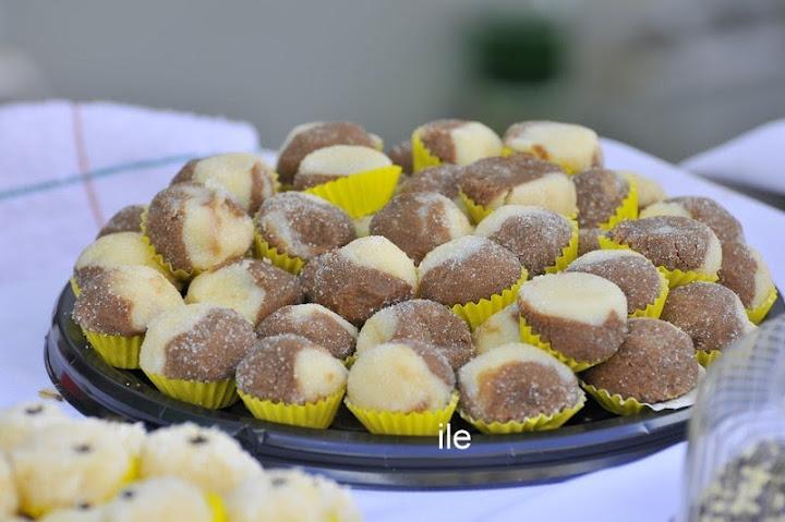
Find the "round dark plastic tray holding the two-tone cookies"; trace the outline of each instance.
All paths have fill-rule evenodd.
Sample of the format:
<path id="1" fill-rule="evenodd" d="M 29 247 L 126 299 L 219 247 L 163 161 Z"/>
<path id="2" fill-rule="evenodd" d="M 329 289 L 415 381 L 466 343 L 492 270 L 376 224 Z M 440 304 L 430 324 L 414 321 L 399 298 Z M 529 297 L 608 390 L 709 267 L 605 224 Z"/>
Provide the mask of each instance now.
<path id="1" fill-rule="evenodd" d="M 689 409 L 616 417 L 591 399 L 553 432 L 490 436 L 469 429 L 466 450 L 439 449 L 437 437 L 371 435 L 341 408 L 329 429 L 253 418 L 242 403 L 210 411 L 170 399 L 142 372 L 108 366 L 71 319 L 74 295 L 64 288 L 46 339 L 45 363 L 58 390 L 86 415 L 142 421 L 155 428 L 191 421 L 234 436 L 263 464 L 298 465 L 355 486 L 403 489 L 541 484 L 639 459 L 684 440 Z M 770 317 L 785 312 L 778 299 Z"/>

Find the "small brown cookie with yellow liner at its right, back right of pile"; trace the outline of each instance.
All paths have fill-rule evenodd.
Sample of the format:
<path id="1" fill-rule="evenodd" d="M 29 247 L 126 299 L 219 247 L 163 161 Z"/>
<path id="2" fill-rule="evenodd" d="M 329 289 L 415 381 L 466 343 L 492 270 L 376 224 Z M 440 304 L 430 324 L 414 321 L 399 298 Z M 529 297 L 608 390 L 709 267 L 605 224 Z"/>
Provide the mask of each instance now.
<path id="1" fill-rule="evenodd" d="M 638 190 L 627 178 L 607 169 L 589 169 L 572 178 L 581 228 L 609 229 L 638 217 Z"/>

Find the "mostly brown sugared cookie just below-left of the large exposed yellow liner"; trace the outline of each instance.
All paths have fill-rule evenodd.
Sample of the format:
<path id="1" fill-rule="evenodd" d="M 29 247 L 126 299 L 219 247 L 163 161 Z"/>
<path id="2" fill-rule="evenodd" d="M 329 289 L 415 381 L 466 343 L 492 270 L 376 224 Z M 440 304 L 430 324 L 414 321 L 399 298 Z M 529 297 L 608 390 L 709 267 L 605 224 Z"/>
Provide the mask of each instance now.
<path id="1" fill-rule="evenodd" d="M 279 252 L 304 260 L 357 238 L 351 218 L 311 194 L 285 192 L 267 199 L 254 217 L 256 233 Z"/>

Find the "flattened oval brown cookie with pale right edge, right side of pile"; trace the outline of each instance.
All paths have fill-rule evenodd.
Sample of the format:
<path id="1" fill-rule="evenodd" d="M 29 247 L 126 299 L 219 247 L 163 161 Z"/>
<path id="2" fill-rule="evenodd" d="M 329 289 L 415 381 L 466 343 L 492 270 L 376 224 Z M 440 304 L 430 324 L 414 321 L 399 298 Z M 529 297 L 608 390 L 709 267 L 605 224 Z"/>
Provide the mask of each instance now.
<path id="1" fill-rule="evenodd" d="M 656 216 L 621 221 L 606 235 L 668 270 L 716 274 L 722 265 L 720 240 L 712 229 L 695 219 Z"/>

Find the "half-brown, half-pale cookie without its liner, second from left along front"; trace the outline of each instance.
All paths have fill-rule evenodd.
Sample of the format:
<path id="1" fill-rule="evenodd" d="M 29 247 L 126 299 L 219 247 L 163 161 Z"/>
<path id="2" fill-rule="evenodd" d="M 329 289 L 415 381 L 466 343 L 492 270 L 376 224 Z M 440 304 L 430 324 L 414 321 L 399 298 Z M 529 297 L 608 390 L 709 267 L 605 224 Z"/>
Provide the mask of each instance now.
<path id="1" fill-rule="evenodd" d="M 346 386 L 347 369 L 330 352 L 293 333 L 256 342 L 237 371 L 238 390 L 286 404 L 316 402 Z"/>

